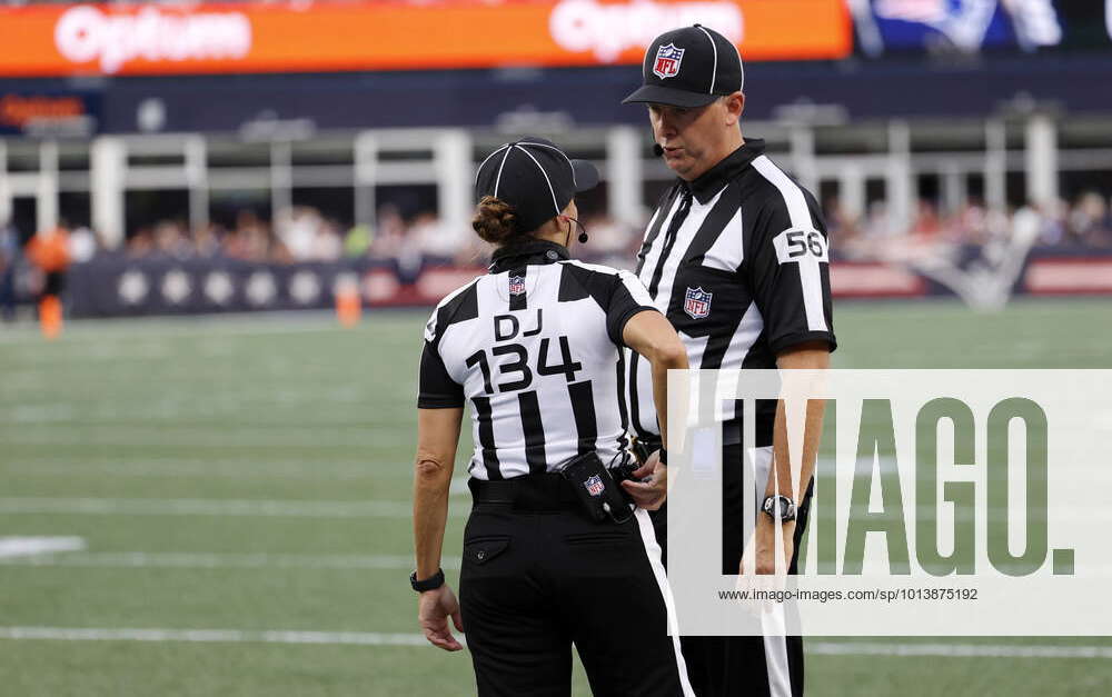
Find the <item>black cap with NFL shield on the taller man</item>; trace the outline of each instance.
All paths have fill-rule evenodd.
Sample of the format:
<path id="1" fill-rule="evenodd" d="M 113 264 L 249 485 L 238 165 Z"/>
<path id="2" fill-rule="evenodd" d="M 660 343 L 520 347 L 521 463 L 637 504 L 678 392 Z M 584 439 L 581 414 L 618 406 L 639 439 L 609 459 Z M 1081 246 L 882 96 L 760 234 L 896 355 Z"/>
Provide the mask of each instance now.
<path id="1" fill-rule="evenodd" d="M 622 103 L 703 107 L 745 83 L 742 57 L 729 39 L 702 24 L 658 36 L 645 51 L 645 83 Z"/>

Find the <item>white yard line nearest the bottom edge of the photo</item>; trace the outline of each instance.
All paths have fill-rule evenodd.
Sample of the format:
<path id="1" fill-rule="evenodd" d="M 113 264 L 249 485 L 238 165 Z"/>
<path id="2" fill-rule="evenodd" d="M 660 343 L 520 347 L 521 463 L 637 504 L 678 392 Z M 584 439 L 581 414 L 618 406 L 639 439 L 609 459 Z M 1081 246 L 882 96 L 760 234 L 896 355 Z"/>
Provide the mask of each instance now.
<path id="1" fill-rule="evenodd" d="M 464 639 L 457 634 L 457 638 Z M 240 629 L 108 629 L 0 627 L 0 639 L 57 641 L 190 641 L 200 644 L 326 644 L 340 646 L 429 646 L 419 634 L 377 631 L 246 631 Z M 861 644 L 812 641 L 807 653 L 827 656 L 933 656 L 943 658 L 1112 658 L 1112 646 L 1023 646 L 1013 644 Z"/>

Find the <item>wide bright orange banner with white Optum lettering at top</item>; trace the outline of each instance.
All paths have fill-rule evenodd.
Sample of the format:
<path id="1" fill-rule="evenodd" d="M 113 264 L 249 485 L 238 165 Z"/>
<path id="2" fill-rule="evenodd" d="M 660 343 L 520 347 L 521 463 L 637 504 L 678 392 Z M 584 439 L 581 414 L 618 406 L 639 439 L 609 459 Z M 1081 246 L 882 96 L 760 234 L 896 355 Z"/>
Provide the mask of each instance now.
<path id="1" fill-rule="evenodd" d="M 600 66 L 702 22 L 746 60 L 853 50 L 843 0 L 457 0 L 0 9 L 0 76 L 332 72 Z"/>

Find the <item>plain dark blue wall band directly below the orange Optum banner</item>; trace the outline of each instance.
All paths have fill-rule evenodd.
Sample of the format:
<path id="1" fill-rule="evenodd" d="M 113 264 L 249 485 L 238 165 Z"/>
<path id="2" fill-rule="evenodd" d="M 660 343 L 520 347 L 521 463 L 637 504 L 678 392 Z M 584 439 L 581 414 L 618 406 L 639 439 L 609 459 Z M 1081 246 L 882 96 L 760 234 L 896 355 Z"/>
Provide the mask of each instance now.
<path id="1" fill-rule="evenodd" d="M 230 131 L 267 112 L 311 119 L 320 129 L 489 126 L 522 107 L 600 125 L 642 122 L 642 109 L 619 103 L 638 79 L 636 67 L 620 67 L 3 80 L 0 91 L 99 92 L 105 132 L 138 130 L 138 106 L 151 97 L 166 104 L 168 131 Z M 751 63 L 745 92 L 747 116 L 757 119 L 800 101 L 840 104 L 852 119 L 975 117 L 1017 96 L 1054 102 L 1068 112 L 1112 113 L 1112 57 L 976 58 L 951 66 L 925 59 Z"/>

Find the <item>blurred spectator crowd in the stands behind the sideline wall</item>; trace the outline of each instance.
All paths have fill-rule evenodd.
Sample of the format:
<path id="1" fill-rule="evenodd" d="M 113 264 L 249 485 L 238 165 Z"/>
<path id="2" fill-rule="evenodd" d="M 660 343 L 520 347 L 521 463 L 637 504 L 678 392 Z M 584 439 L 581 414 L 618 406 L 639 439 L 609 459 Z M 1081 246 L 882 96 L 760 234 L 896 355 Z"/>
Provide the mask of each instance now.
<path id="1" fill-rule="evenodd" d="M 911 223 L 898 226 L 884 201 L 873 202 L 858 217 L 850 216 L 836 199 L 825 202 L 835 259 L 911 263 L 936 258 L 953 249 L 991 248 L 1022 240 L 1046 250 L 1112 252 L 1112 206 L 1106 197 L 1086 192 L 1051 208 L 1025 206 L 1009 211 L 986 209 L 970 201 L 956 211 L 940 212 L 927 200 L 919 202 Z M 587 261 L 628 268 L 641 245 L 642 228 L 606 216 L 584 216 L 590 236 L 577 246 Z M 405 218 L 384 206 L 374 226 L 347 227 L 320 210 L 299 206 L 266 220 L 239 211 L 227 225 L 211 222 L 190 230 L 180 220 L 163 220 L 136 229 L 122 250 L 107 251 L 88 227 L 68 227 L 70 257 L 82 263 L 99 253 L 127 258 L 226 258 L 248 262 L 331 262 L 370 259 L 390 262 L 403 278 L 426 265 L 483 266 L 489 246 L 470 229 L 451 229 L 431 211 Z M 20 233 L 23 233 L 22 236 Z M 0 225 L 0 270 L 10 271 L 20 257 L 28 231 Z"/>

